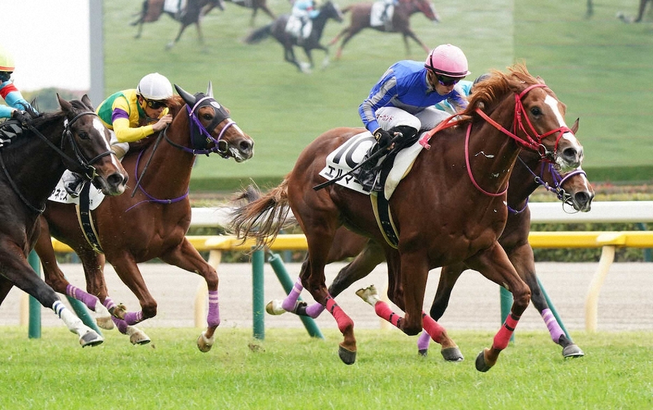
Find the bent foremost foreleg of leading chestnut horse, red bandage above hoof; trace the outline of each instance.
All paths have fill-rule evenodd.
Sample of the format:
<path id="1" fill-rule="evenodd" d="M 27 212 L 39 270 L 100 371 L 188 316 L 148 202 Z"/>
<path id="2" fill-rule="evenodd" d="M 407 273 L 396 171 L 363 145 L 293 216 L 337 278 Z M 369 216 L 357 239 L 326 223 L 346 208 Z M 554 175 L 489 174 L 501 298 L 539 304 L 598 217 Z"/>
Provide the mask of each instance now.
<path id="1" fill-rule="evenodd" d="M 512 293 L 512 307 L 501 329 L 494 336 L 492 347 L 485 349 L 476 358 L 476 369 L 487 372 L 496 364 L 499 353 L 508 346 L 512 333 L 515 332 L 517 323 L 524 310 L 529 306 L 531 291 L 510 263 L 508 256 L 498 242 L 466 261 L 467 265 L 478 270 L 483 276 L 503 286 Z"/>

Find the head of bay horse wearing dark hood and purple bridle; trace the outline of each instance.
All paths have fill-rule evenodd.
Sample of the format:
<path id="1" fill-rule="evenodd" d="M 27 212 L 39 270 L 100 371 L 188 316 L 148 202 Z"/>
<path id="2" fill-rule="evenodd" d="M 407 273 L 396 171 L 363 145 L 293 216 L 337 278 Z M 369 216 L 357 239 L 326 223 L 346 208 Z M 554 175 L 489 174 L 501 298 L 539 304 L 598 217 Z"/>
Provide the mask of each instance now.
<path id="1" fill-rule="evenodd" d="M 175 84 L 178 94 L 186 103 L 191 122 L 191 148 L 193 154 L 217 152 L 236 162 L 247 161 L 254 155 L 254 140 L 229 117 L 229 110 L 213 98 L 213 87 L 208 84 L 206 93 L 189 94 Z"/>

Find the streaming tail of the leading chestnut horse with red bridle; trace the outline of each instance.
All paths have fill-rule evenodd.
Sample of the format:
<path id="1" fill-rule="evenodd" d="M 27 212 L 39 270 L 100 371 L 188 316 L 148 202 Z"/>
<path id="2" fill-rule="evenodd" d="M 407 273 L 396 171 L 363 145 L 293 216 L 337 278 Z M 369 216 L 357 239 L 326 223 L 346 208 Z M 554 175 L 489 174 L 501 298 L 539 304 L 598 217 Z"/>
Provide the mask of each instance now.
<path id="1" fill-rule="evenodd" d="M 250 202 L 237 207 L 231 214 L 231 230 L 243 242 L 250 237 L 263 244 L 273 242 L 279 231 L 287 225 L 286 219 L 290 211 L 288 180 L 283 180 L 279 186 L 264 195 L 258 190 L 252 193 L 252 188 L 248 188 L 241 193 L 240 198 Z"/>

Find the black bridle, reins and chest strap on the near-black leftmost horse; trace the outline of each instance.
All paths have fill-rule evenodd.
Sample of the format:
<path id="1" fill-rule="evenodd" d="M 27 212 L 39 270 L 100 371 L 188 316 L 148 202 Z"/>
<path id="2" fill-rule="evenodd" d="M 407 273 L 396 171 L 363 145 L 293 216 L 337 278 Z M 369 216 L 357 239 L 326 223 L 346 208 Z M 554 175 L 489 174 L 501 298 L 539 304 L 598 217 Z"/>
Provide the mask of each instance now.
<path id="1" fill-rule="evenodd" d="M 92 111 L 85 111 L 85 112 L 80 112 L 78 115 L 73 117 L 73 119 L 71 119 L 70 121 L 68 121 L 68 118 L 64 119 L 64 131 L 62 131 L 62 137 L 63 138 L 62 138 L 62 144 L 61 144 L 60 148 L 57 147 L 57 145 L 53 144 L 52 141 L 50 141 L 48 138 L 43 136 L 41 131 L 38 131 L 38 129 L 36 129 L 36 127 L 34 127 L 33 125 L 27 124 L 27 128 L 32 133 L 36 134 L 36 136 L 38 136 L 38 138 L 41 138 L 41 140 L 45 141 L 45 143 L 50 148 L 54 149 L 55 152 L 57 152 L 57 154 L 59 154 L 59 156 L 62 157 L 63 161 L 68 161 L 69 163 L 76 164 L 76 166 L 79 167 L 79 170 L 74 170 L 74 171 L 71 170 L 71 171 L 76 172 L 76 173 L 80 173 L 80 174 L 84 175 L 85 177 L 87 177 L 89 180 L 93 180 L 97 176 L 97 173 L 96 173 L 95 168 L 92 166 L 92 164 L 96 163 L 97 161 L 99 161 L 99 159 L 103 158 L 104 156 L 115 154 L 115 152 L 113 150 L 109 150 L 107 152 L 103 152 L 102 154 L 99 154 L 99 155 L 95 156 L 90 161 L 85 159 L 79 145 L 77 144 L 76 140 L 73 138 L 73 133 L 71 131 L 71 126 L 80 117 L 82 117 L 83 115 L 97 115 L 97 114 L 95 112 L 92 112 Z M 64 143 L 66 142 L 66 140 L 68 140 L 70 142 L 70 145 L 73 148 L 73 152 L 75 152 L 76 160 L 72 159 L 70 156 L 68 156 L 64 152 L 63 148 L 64 148 Z M 7 180 L 9 181 L 9 184 L 11 185 L 11 188 L 16 193 L 18 198 L 20 198 L 20 200 L 22 200 L 22 202 L 25 205 L 27 205 L 27 207 L 30 210 L 36 212 L 37 214 L 42 214 L 43 211 L 45 211 L 45 203 L 43 203 L 43 206 L 40 207 L 40 208 L 37 208 L 34 205 L 31 205 L 29 200 L 27 200 L 27 198 L 24 197 L 24 195 L 20 191 L 20 188 L 16 185 L 16 183 L 13 180 L 13 178 L 11 177 L 11 175 L 9 175 L 9 170 L 6 167 L 6 164 L 5 164 L 5 162 L 4 162 L 3 158 L 2 158 L 2 155 L 0 155 L 0 166 L 2 167 L 4 175 L 6 175 Z"/>

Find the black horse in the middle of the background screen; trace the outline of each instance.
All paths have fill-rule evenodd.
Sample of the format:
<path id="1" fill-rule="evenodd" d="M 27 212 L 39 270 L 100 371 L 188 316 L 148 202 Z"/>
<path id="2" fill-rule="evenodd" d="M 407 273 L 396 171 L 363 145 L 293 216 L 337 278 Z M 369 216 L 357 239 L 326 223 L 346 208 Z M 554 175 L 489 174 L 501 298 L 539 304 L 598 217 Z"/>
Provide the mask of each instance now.
<path id="1" fill-rule="evenodd" d="M 264 38 L 268 36 L 273 36 L 283 46 L 283 57 L 285 60 L 290 64 L 294 64 L 299 71 L 308 72 L 310 71 L 310 68 L 313 68 L 314 64 L 311 51 L 315 49 L 324 51 L 324 62 L 322 65 L 327 66 L 327 64 L 329 64 L 329 49 L 320 44 L 320 39 L 322 38 L 324 26 L 327 25 L 327 20 L 333 19 L 337 22 L 343 21 L 343 14 L 340 13 L 340 9 L 336 6 L 336 3 L 329 0 L 320 7 L 320 14 L 313 20 L 313 29 L 310 31 L 310 36 L 303 40 L 301 44 L 295 36 L 286 31 L 288 18 L 289 15 L 280 15 L 277 20 L 274 20 L 266 27 L 254 30 L 252 34 L 245 38 L 245 43 L 255 44 L 264 40 Z M 308 57 L 308 66 L 306 63 L 301 63 L 296 59 L 293 50 L 294 46 L 303 48 L 306 57 Z"/>

